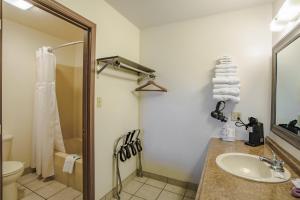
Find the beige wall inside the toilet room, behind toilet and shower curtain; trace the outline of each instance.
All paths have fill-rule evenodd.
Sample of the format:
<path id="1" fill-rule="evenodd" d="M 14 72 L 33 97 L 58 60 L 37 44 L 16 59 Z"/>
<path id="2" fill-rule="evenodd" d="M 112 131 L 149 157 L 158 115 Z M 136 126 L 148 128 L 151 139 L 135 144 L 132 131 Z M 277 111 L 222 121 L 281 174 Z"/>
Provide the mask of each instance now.
<path id="1" fill-rule="evenodd" d="M 4 12 L 5 18 L 5 12 Z M 3 129 L 14 136 L 12 158 L 31 158 L 31 130 L 35 88 L 35 52 L 42 46 L 57 46 L 65 40 L 3 21 Z M 75 49 L 56 52 L 57 63 L 75 65 Z"/>

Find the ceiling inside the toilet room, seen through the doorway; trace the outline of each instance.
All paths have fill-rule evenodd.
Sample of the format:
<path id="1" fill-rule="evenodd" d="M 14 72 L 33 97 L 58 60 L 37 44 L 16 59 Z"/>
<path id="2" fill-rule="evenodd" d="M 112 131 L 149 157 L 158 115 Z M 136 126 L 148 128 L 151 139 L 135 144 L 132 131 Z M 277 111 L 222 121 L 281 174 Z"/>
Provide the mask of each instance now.
<path id="1" fill-rule="evenodd" d="M 67 41 L 83 40 L 82 29 L 37 7 L 24 11 L 4 2 L 3 18 Z"/>

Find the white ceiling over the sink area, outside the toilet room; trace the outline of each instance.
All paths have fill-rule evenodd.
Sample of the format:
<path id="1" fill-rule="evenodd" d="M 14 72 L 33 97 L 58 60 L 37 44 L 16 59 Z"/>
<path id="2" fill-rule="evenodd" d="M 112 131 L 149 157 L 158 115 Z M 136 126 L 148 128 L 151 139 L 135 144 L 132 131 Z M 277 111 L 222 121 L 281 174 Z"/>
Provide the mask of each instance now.
<path id="1" fill-rule="evenodd" d="M 253 7 L 273 0 L 106 0 L 140 28 Z"/>

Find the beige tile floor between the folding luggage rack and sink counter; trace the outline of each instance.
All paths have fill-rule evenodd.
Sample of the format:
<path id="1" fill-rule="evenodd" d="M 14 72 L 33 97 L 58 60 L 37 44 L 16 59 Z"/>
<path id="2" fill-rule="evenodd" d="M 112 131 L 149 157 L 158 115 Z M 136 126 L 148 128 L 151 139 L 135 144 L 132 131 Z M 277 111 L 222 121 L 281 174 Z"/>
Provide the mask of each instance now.
<path id="1" fill-rule="evenodd" d="M 193 200 L 196 192 L 150 178 L 134 178 L 124 185 L 121 200 Z"/>

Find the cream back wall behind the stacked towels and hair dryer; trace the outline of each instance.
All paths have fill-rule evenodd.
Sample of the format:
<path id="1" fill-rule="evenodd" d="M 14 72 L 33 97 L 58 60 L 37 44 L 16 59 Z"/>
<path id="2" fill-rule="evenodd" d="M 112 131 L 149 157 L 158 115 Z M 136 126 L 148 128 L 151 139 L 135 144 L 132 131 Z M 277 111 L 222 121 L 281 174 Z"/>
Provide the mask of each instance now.
<path id="1" fill-rule="evenodd" d="M 145 170 L 199 183 L 208 141 L 223 125 L 210 117 L 217 103 L 211 79 L 222 55 L 233 57 L 241 79 L 241 102 L 228 103 L 226 114 L 257 117 L 269 131 L 271 18 L 268 4 L 142 31 L 141 62 L 155 66 L 158 82 L 169 89 L 141 102 Z"/>

